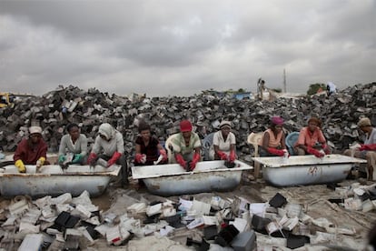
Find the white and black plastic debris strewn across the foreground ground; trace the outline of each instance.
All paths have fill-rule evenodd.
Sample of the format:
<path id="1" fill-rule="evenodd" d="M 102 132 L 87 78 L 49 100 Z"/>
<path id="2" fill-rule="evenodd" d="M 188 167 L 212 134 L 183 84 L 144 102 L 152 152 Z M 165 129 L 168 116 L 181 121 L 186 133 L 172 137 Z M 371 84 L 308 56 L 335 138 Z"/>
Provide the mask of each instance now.
<path id="1" fill-rule="evenodd" d="M 15 196 L 1 202 L 0 248 L 369 250 L 365 234 L 376 216 L 371 212 L 375 185 L 342 185 L 335 190 L 267 186 L 260 193 L 263 202 L 249 197 L 250 186 L 243 187 L 248 190 L 245 197 L 233 193 L 160 197 L 119 189 L 110 195 L 106 211 L 92 203 L 87 191 L 75 197 Z"/>

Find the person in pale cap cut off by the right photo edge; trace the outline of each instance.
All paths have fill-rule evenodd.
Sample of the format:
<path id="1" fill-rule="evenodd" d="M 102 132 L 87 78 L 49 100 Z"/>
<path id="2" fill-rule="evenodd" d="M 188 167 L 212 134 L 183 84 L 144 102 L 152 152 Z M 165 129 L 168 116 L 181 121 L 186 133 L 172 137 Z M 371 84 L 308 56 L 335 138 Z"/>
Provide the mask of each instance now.
<path id="1" fill-rule="evenodd" d="M 371 120 L 368 117 L 361 118 L 358 127 L 366 134 L 364 144 L 356 149 L 348 149 L 343 154 L 367 159 L 368 179 L 373 180 L 376 178 L 376 128 L 371 126 Z"/>

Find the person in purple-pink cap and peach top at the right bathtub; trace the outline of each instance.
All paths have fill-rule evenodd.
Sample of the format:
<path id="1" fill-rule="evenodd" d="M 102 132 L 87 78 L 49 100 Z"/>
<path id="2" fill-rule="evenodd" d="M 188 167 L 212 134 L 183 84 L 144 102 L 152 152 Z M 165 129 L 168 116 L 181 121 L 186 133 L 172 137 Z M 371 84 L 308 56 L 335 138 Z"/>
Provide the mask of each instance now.
<path id="1" fill-rule="evenodd" d="M 271 125 L 263 133 L 260 147 L 260 156 L 284 156 L 288 153 L 285 144 L 285 135 L 283 132 L 283 118 L 273 116 Z"/>

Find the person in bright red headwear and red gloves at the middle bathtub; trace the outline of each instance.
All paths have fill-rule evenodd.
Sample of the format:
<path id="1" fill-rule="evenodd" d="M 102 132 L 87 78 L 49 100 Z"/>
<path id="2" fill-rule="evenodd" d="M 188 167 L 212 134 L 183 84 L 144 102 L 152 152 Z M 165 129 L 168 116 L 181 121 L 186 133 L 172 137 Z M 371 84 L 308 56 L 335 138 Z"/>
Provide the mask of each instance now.
<path id="1" fill-rule="evenodd" d="M 167 146 L 173 151 L 169 163 L 178 163 L 188 171 L 193 171 L 201 159 L 201 140 L 192 129 L 191 122 L 183 120 L 180 123 L 180 133 L 171 136 L 171 146 Z"/>

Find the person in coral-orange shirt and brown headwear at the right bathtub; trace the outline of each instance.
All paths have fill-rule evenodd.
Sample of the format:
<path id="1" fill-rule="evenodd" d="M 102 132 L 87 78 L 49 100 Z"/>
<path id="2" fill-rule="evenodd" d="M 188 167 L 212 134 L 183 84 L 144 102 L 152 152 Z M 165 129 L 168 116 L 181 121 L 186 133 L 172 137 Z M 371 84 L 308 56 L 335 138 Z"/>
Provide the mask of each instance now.
<path id="1" fill-rule="evenodd" d="M 322 157 L 331 153 L 331 148 L 326 144 L 326 139 L 322 134 L 321 126 L 320 119 L 312 116 L 308 120 L 308 126 L 302 127 L 294 146 L 294 151 L 298 156 L 310 154 Z"/>

